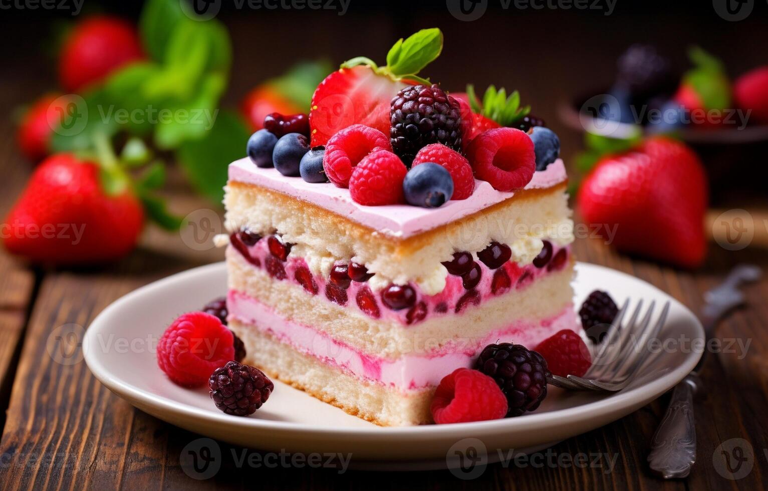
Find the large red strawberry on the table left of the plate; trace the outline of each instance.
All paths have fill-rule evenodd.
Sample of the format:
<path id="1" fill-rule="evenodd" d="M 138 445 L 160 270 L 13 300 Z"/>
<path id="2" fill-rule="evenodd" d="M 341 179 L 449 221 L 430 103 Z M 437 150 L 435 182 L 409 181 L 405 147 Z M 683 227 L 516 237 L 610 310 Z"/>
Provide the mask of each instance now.
<path id="1" fill-rule="evenodd" d="M 70 154 L 42 161 L 5 219 L 5 247 L 47 264 L 93 264 L 134 248 L 144 223 L 128 187 L 104 191 L 97 164 Z"/>

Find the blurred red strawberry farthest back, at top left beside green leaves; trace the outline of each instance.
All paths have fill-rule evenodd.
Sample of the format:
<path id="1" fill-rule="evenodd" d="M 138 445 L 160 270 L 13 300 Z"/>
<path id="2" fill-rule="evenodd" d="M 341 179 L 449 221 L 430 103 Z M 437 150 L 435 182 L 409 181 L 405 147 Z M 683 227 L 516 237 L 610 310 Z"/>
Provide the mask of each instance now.
<path id="1" fill-rule="evenodd" d="M 120 18 L 97 15 L 75 25 L 58 59 L 61 86 L 80 91 L 118 68 L 144 59 L 136 28 Z"/>

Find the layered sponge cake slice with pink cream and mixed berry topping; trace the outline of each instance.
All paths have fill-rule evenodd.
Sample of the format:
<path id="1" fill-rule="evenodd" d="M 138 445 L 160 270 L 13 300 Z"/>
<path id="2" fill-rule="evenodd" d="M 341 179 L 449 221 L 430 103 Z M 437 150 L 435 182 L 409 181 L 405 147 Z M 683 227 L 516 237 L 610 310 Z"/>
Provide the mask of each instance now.
<path id="1" fill-rule="evenodd" d="M 246 362 L 387 426 L 431 423 L 435 387 L 489 343 L 578 326 L 557 137 L 516 94 L 480 107 L 424 83 L 398 46 L 429 61 L 442 35 L 329 75 L 310 134 L 303 116 L 268 118 L 225 197 Z"/>

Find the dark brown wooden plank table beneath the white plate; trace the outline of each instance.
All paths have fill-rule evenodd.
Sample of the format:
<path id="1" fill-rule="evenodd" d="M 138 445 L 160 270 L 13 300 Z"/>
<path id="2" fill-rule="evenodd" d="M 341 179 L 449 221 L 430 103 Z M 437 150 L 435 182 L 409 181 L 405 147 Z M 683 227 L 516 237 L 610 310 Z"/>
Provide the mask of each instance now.
<path id="1" fill-rule="evenodd" d="M 242 35 L 235 31 L 234 38 Z M 237 50 L 236 50 L 237 51 Z M 240 54 L 242 56 L 242 53 Z M 343 56 L 343 55 L 342 55 Z M 50 70 L 14 58 L 14 77 L 0 81 L 0 113 L 8 115 L 20 101 L 34 98 Z M 37 67 L 37 68 L 35 68 Z M 235 90 L 252 83 L 235 78 Z M 531 85 L 533 82 L 531 82 Z M 553 88 L 554 90 L 554 88 Z M 558 88 L 558 90 L 561 90 Z M 553 114 L 554 115 L 554 114 Z M 0 121 L 0 213 L 3 216 L 22 189 L 31 166 L 15 147 L 10 118 Z M 578 135 L 563 134 L 564 148 L 578 148 Z M 569 154 L 572 155 L 573 151 Z M 175 210 L 211 207 L 175 181 L 168 195 Z M 765 250 L 730 252 L 712 244 L 707 263 L 696 272 L 674 270 L 616 254 L 597 240 L 575 244 L 579 260 L 604 264 L 660 287 L 697 311 L 702 294 L 748 261 L 768 270 Z M 768 277 L 746 289 L 749 307 L 738 310 L 717 329 L 723 338 L 751 340 L 739 359 L 718 353 L 703 370 L 705 390 L 695 403 L 699 459 L 685 480 L 663 481 L 650 475 L 646 456 L 651 435 L 667 396 L 615 423 L 552 447 L 555 456 L 597 453 L 608 459 L 600 467 L 505 468 L 488 466 L 482 476 L 462 481 L 448 471 L 373 473 L 335 469 L 239 469 L 232 459 L 211 479 L 194 481 L 180 466 L 180 453 L 198 438 L 194 433 L 157 420 L 104 388 L 84 362 L 57 363 L 49 353 L 65 350 L 78 356 L 78 343 L 59 339 L 65 324 L 88 327 L 112 301 L 167 275 L 220 260 L 220 250 L 184 246 L 179 234 L 147 229 L 131 255 L 111 267 L 88 270 L 36 269 L 0 252 L 0 486 L 4 489 L 177 489 L 222 486 L 243 489 L 333 489 L 382 486 L 438 489 L 448 486 L 494 489 L 761 489 L 768 486 Z M 141 327 L 137 327 L 141 329 Z M 728 440 L 745 439 L 753 447 L 753 469 L 728 480 L 713 463 L 716 449 Z M 222 443 L 222 451 L 232 447 Z M 743 444 L 742 444 L 743 446 Z M 237 449 L 234 449 L 237 450 Z M 608 462 L 615 460 L 613 469 Z M 746 464 L 745 464 L 746 465 Z"/>

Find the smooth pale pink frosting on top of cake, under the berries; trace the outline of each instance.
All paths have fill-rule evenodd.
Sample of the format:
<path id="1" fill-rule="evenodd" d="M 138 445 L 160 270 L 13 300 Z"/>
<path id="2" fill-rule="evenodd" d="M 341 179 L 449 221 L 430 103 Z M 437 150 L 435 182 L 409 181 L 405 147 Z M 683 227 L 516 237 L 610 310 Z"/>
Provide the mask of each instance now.
<path id="1" fill-rule="evenodd" d="M 301 177 L 286 177 L 274 168 L 257 168 L 249 158 L 230 164 L 230 181 L 279 191 L 297 199 L 308 201 L 326 210 L 393 237 L 412 237 L 424 231 L 449 224 L 459 218 L 483 210 L 512 197 L 513 192 L 496 191 L 486 181 L 475 180 L 475 192 L 465 200 L 452 200 L 439 208 L 422 208 L 407 204 L 365 206 L 349 196 L 349 190 L 334 184 L 316 184 Z M 561 159 L 549 164 L 545 171 L 535 172 L 525 189 L 545 189 L 566 179 Z"/>

